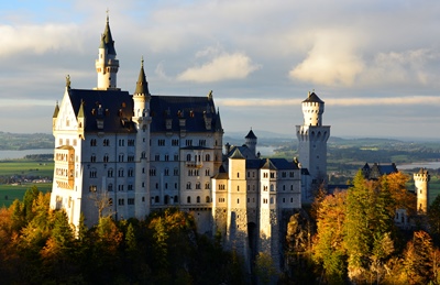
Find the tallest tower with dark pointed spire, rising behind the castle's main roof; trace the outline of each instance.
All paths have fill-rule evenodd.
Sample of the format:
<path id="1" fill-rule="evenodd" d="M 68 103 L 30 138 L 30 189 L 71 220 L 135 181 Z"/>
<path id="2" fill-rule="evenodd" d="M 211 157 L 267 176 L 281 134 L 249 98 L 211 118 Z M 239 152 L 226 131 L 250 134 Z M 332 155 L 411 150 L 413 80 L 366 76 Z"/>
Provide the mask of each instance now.
<path id="1" fill-rule="evenodd" d="M 117 90 L 117 74 L 119 69 L 119 61 L 117 59 L 117 51 L 114 50 L 114 41 L 111 36 L 109 15 L 107 15 L 107 24 L 101 35 L 99 45 L 98 59 L 95 63 L 98 73 L 98 90 Z"/>

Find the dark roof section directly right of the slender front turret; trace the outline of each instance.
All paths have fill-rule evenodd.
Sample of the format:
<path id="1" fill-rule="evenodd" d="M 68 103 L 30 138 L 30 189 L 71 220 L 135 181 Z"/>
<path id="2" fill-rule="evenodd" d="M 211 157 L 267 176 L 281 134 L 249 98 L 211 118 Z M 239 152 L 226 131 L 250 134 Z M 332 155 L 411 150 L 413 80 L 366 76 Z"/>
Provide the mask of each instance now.
<path id="1" fill-rule="evenodd" d="M 152 132 L 179 132 L 179 120 L 185 119 L 187 132 L 218 132 L 222 131 L 220 117 L 216 116 L 213 100 L 208 97 L 195 96 L 151 96 L 150 116 L 152 117 Z M 211 112 L 210 130 L 207 130 L 205 117 Z M 172 128 L 166 129 L 166 120 L 172 119 Z"/>

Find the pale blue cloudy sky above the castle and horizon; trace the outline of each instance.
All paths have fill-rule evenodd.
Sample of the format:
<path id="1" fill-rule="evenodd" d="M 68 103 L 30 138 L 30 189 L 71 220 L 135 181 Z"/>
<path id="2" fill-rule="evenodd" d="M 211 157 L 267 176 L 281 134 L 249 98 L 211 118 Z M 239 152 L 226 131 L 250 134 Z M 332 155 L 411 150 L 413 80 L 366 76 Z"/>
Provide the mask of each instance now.
<path id="1" fill-rule="evenodd" d="M 432 0 L 3 1 L 0 131 L 51 132 L 67 74 L 96 86 L 107 9 L 119 87 L 134 90 L 144 56 L 152 94 L 213 90 L 227 134 L 294 136 L 315 90 L 334 136 L 440 139 Z"/>

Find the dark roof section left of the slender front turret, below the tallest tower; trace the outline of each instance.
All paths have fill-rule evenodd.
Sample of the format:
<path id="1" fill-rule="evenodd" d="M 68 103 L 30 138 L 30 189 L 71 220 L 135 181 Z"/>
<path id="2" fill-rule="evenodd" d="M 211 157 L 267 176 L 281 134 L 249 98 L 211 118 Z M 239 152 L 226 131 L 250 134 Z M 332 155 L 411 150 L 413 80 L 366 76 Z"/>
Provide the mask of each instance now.
<path id="1" fill-rule="evenodd" d="M 85 132 L 136 132 L 131 121 L 133 100 L 129 92 L 84 89 L 67 92 L 75 116 L 86 118 Z M 98 119 L 103 121 L 103 129 L 98 129 Z"/>

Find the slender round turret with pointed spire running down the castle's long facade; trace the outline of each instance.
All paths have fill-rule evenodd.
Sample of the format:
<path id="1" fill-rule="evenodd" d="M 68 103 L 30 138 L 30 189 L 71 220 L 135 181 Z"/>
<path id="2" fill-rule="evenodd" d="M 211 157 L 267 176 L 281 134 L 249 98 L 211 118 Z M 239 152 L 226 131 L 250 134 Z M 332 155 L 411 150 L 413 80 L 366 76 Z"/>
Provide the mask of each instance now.
<path id="1" fill-rule="evenodd" d="M 133 94 L 132 120 L 135 124 L 138 134 L 135 143 L 135 217 L 143 219 L 150 213 L 150 100 L 148 83 L 144 72 L 144 59 L 141 61 L 141 70 Z M 146 201 L 146 202 L 145 202 Z"/>

